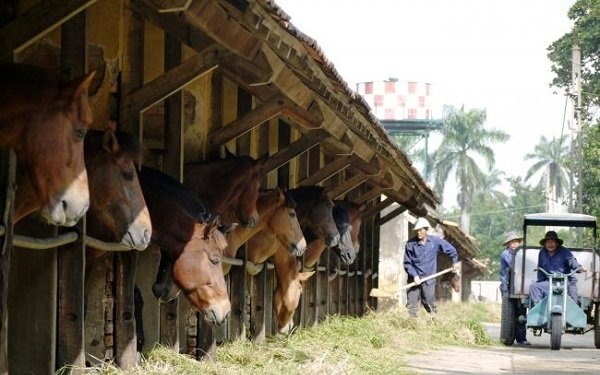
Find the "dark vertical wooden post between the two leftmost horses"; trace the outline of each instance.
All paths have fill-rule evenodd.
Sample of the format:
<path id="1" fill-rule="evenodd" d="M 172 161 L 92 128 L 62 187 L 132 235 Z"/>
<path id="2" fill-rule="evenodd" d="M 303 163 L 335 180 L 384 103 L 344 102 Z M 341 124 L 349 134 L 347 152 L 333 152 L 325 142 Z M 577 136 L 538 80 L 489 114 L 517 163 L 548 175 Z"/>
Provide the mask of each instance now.
<path id="1" fill-rule="evenodd" d="M 62 25 L 61 71 L 69 79 L 87 70 L 87 16 L 83 11 Z M 58 248 L 58 332 L 56 370 L 72 365 L 73 374 L 85 367 L 85 218 L 78 224 L 79 240 Z M 71 231 L 72 229 L 66 229 Z"/>

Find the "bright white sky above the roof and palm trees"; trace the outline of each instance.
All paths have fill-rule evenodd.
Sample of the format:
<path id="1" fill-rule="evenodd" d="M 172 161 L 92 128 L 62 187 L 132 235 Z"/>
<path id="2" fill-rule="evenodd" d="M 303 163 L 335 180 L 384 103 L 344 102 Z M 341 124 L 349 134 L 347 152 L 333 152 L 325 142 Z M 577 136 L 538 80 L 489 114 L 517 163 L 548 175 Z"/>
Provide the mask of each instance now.
<path id="1" fill-rule="evenodd" d="M 444 104 L 485 109 L 485 127 L 510 136 L 494 147 L 506 176 L 525 177 L 533 161 L 524 155 L 542 135 L 570 136 L 564 92 L 549 87 L 547 48 L 571 30 L 575 0 L 275 1 L 351 88 L 392 77 L 428 82 L 433 118 Z M 440 138 L 430 139 L 432 150 Z M 455 186 L 448 182 L 446 208 L 456 206 Z"/>

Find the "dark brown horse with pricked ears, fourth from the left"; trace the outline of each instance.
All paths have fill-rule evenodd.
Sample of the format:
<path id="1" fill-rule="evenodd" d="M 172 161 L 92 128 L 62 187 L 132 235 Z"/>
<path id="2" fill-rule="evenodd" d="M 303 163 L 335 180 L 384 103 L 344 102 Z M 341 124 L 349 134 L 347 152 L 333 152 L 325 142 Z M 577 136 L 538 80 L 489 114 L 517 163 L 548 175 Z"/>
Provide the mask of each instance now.
<path id="1" fill-rule="evenodd" d="M 188 163 L 184 181 L 206 205 L 218 212 L 225 223 L 238 221 L 252 228 L 258 223 L 256 201 L 260 189 L 261 169 L 268 159 L 228 155 L 225 159 Z"/>

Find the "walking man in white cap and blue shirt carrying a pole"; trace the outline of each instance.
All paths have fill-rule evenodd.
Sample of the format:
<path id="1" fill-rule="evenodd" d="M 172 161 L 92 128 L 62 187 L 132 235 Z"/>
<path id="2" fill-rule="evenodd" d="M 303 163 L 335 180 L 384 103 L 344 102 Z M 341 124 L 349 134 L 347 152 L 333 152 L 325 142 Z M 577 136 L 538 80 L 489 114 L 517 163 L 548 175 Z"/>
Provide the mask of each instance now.
<path id="1" fill-rule="evenodd" d="M 435 278 L 421 281 L 437 271 L 437 254 L 443 252 L 452 260 L 455 272 L 459 270 L 458 253 L 448 241 L 437 236 L 430 236 L 427 230 L 431 227 L 424 217 L 415 222 L 413 228 L 417 236 L 406 242 L 404 250 L 404 269 L 408 274 L 408 283 L 414 281 L 415 286 L 406 292 L 408 313 L 416 317 L 419 311 L 419 298 L 428 313 L 437 312 L 435 305 Z"/>

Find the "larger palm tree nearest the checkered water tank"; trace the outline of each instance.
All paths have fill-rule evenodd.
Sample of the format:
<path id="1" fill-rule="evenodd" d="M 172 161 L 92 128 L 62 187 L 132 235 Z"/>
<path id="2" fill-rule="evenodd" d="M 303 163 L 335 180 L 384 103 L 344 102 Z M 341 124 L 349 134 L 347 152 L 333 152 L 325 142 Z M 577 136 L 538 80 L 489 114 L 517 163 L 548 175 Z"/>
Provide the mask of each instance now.
<path id="1" fill-rule="evenodd" d="M 460 227 L 467 233 L 473 195 L 485 180 L 485 174 L 475 157 L 482 158 L 487 170 L 491 170 L 495 163 L 491 145 L 505 142 L 509 137 L 500 130 L 485 129 L 485 120 L 485 110 L 465 111 L 464 106 L 459 110 L 449 107 L 442 130 L 444 138 L 431 158 L 435 173 L 434 188 L 438 194 L 443 195 L 444 185 L 454 171 L 459 189 L 456 200 L 460 208 Z"/>

